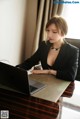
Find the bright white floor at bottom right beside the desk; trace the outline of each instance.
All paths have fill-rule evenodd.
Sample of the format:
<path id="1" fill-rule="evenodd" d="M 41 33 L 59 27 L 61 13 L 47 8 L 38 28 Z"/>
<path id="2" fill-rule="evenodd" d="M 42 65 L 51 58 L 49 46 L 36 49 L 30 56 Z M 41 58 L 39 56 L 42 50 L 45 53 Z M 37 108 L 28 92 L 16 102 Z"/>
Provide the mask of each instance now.
<path id="1" fill-rule="evenodd" d="M 80 82 L 75 82 L 71 98 L 63 98 L 61 119 L 80 119 Z"/>

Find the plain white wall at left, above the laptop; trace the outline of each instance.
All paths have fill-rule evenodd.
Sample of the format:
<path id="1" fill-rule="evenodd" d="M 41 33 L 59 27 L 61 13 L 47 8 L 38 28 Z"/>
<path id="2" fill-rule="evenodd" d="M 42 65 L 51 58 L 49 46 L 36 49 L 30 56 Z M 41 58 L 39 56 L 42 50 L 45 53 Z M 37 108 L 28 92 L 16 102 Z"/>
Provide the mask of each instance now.
<path id="1" fill-rule="evenodd" d="M 20 62 L 27 0 L 0 0 L 0 61 Z"/>

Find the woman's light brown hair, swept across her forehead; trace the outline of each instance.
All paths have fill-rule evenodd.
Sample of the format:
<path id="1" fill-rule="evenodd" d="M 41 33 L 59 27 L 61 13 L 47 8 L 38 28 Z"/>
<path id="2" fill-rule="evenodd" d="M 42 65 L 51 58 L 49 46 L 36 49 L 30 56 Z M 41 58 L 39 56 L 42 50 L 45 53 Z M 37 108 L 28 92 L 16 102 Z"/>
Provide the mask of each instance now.
<path id="1" fill-rule="evenodd" d="M 52 17 L 46 24 L 46 29 L 51 25 L 51 24 L 55 24 L 55 26 L 57 27 L 58 31 L 59 29 L 61 30 L 62 35 L 66 35 L 68 32 L 68 25 L 67 22 L 65 21 L 64 18 L 60 17 L 60 16 L 54 16 Z"/>

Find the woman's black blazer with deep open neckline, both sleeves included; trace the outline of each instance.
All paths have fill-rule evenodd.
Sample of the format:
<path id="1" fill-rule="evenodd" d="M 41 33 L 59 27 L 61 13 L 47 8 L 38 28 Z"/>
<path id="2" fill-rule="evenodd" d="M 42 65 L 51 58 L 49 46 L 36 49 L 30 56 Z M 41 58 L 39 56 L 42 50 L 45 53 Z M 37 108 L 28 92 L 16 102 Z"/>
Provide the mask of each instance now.
<path id="1" fill-rule="evenodd" d="M 49 66 L 47 64 L 47 57 L 50 47 L 51 44 L 49 42 L 42 41 L 37 51 L 30 58 L 17 66 L 25 70 L 29 70 L 40 61 L 43 69 L 57 70 L 57 78 L 74 81 L 78 68 L 78 48 L 65 41 L 65 44 L 62 45 L 55 63 L 52 66 Z"/>

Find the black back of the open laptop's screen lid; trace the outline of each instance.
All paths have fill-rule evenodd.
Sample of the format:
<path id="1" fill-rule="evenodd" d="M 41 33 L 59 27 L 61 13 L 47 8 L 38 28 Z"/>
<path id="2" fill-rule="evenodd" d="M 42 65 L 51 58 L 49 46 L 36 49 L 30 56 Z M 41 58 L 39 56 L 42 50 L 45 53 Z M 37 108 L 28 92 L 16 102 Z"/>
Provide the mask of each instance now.
<path id="1" fill-rule="evenodd" d="M 30 95 L 27 72 L 0 62 L 0 88 Z"/>

